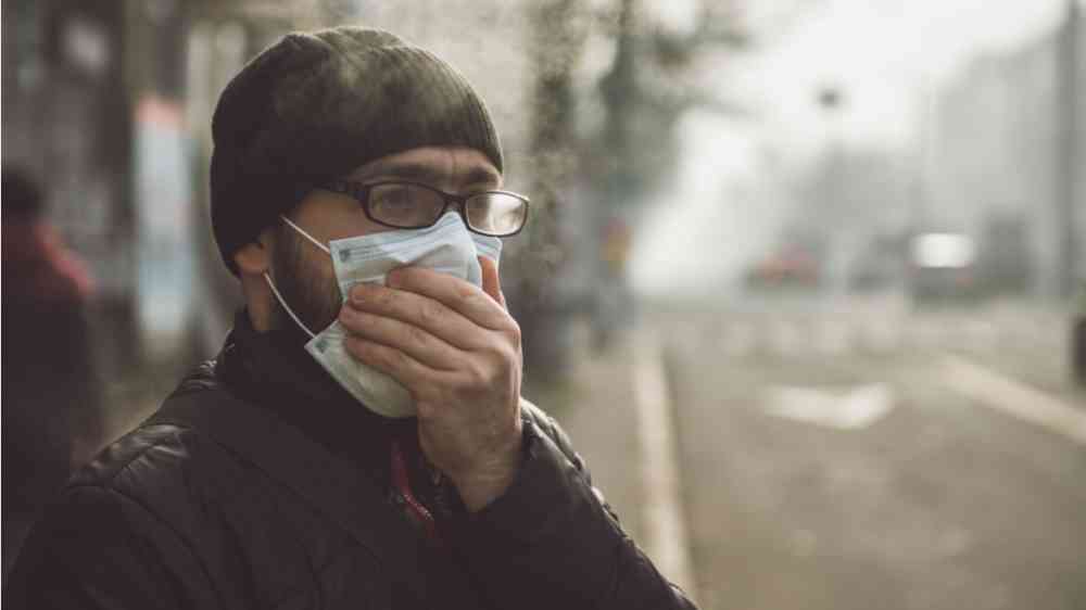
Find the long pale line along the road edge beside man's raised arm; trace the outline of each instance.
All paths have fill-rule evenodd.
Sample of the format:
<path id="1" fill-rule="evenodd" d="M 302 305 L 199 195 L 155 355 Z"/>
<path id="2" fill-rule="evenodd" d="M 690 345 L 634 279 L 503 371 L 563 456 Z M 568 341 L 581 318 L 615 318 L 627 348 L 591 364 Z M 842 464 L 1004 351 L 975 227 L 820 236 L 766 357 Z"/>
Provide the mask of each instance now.
<path id="1" fill-rule="evenodd" d="M 645 552 L 661 574 L 697 599 L 691 569 L 690 538 L 680 496 L 675 430 L 659 343 L 639 336 L 634 396 L 640 443 Z"/>

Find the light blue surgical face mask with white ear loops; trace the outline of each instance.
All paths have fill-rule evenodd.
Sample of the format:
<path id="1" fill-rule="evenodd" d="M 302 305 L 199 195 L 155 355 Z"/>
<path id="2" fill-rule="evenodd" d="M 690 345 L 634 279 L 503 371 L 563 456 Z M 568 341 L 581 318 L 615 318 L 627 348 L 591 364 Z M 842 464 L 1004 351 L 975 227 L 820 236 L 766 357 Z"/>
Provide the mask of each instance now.
<path id="1" fill-rule="evenodd" d="M 482 269 L 477 256 L 485 256 L 496 264 L 502 254 L 502 240 L 469 232 L 459 214 L 454 212 L 446 213 L 434 226 L 426 229 L 384 231 L 333 240 L 328 246 L 290 219 L 283 217 L 282 220 L 331 256 L 344 301 L 355 284 L 383 284 L 389 271 L 406 265 L 434 269 L 481 288 Z M 414 401 L 399 381 L 355 360 L 346 352 L 343 340 L 348 333 L 339 320 L 314 333 L 290 308 L 267 274 L 264 274 L 264 279 L 283 309 L 312 338 L 305 344 L 305 351 L 332 379 L 379 415 L 389 418 L 415 415 Z"/>

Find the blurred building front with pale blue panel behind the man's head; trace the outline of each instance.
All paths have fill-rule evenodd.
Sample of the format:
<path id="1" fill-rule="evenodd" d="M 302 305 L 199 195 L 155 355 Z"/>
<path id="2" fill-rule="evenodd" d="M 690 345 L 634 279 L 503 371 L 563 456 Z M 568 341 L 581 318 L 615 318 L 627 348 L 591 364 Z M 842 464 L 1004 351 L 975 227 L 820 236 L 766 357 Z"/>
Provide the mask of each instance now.
<path id="1" fill-rule="evenodd" d="M 240 301 L 206 205 L 210 117 L 275 37 L 332 18 L 316 0 L 3 3 L 4 162 L 42 185 L 87 262 L 108 427 L 212 355 Z M 135 412 L 127 412 L 134 410 Z"/>

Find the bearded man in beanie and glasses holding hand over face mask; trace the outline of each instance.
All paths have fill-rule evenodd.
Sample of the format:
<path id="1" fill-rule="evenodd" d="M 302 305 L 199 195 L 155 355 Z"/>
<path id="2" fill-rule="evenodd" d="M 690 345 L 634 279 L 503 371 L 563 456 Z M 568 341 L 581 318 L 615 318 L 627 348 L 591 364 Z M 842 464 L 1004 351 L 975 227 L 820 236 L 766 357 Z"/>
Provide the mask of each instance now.
<path id="1" fill-rule="evenodd" d="M 8 601 L 691 606 L 520 401 L 494 237 L 527 200 L 500 190 L 458 74 L 382 31 L 290 35 L 226 88 L 213 135 L 213 227 L 247 308 L 73 479 Z"/>

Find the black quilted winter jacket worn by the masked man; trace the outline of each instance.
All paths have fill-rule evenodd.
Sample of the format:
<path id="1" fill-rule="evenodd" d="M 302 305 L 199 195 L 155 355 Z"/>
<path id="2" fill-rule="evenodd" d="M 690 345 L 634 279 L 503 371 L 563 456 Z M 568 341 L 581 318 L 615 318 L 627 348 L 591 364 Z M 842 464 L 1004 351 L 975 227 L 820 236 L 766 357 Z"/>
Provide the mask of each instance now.
<path id="1" fill-rule="evenodd" d="M 429 475 L 414 420 L 361 408 L 248 316 L 216 360 L 70 481 L 7 608 L 691 608 L 526 405 L 517 480 L 477 513 Z M 403 441 L 411 487 L 390 478 Z"/>

